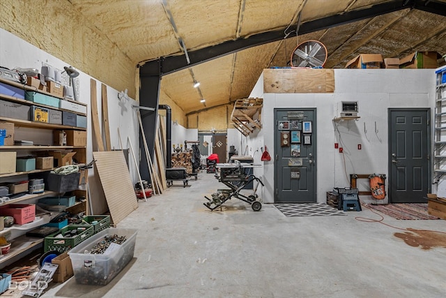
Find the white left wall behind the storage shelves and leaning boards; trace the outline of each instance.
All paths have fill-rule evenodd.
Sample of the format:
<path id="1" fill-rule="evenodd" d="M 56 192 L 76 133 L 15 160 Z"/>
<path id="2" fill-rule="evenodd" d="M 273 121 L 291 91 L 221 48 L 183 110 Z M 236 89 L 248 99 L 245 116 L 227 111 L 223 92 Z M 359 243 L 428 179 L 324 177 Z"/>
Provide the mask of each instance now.
<path id="1" fill-rule="evenodd" d="M 18 38 L 12 33 L 0 28 L 0 66 L 6 68 L 37 68 L 40 71 L 42 64 L 49 64 L 54 68 L 63 70 L 63 66 L 68 66 L 65 62 L 57 59 L 56 57 L 40 50 L 38 47 L 26 43 L 26 41 Z M 90 107 L 90 79 L 91 77 L 82 72 L 82 69 L 77 69 L 80 73 L 76 78 L 79 84 L 79 94 L 77 98 L 79 102 L 88 104 L 87 107 L 87 159 L 93 160 L 93 145 L 92 145 L 92 125 L 91 125 L 91 107 Z M 102 82 L 96 80 L 97 98 L 98 98 L 98 110 L 102 110 L 101 104 L 101 84 Z M 130 87 L 129 87 L 130 89 Z M 121 146 L 118 140 L 118 127 L 121 133 L 121 142 L 124 149 L 129 148 L 128 137 L 132 142 L 132 146 L 135 150 L 135 154 L 139 154 L 139 124 L 137 117 L 135 117 L 135 110 L 132 109 L 132 105 L 137 105 L 136 101 L 129 98 L 128 100 L 118 100 L 118 93 L 121 90 L 112 89 L 107 87 L 108 98 L 108 110 L 109 110 L 109 127 L 110 138 L 112 143 L 112 149 L 120 149 Z M 99 120 L 102 123 L 102 115 L 99 113 Z M 102 127 L 102 124 L 100 124 Z M 43 137 L 45 137 L 45 132 Z M 51 137 L 51 136 L 50 136 Z M 137 181 L 136 167 L 132 163 L 130 157 L 130 177 L 132 181 Z M 93 171 L 90 171 L 93 174 Z"/>

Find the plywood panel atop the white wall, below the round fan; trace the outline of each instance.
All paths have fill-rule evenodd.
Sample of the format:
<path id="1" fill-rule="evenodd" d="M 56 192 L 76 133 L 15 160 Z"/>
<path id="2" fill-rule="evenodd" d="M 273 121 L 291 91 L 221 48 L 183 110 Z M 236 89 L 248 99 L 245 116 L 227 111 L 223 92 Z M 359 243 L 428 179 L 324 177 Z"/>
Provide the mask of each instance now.
<path id="1" fill-rule="evenodd" d="M 321 68 L 267 68 L 265 93 L 333 93 L 334 70 Z"/>

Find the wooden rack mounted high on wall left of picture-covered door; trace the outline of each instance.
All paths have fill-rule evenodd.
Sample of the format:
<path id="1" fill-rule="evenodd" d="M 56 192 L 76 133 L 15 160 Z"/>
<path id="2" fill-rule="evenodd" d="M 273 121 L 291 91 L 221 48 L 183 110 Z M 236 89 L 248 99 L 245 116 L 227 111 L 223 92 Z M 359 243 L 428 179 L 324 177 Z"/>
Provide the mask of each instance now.
<path id="1" fill-rule="evenodd" d="M 261 129 L 261 109 L 263 107 L 263 98 L 245 98 L 238 99 L 234 104 L 231 114 L 231 121 L 234 126 L 247 136 L 254 130 Z"/>

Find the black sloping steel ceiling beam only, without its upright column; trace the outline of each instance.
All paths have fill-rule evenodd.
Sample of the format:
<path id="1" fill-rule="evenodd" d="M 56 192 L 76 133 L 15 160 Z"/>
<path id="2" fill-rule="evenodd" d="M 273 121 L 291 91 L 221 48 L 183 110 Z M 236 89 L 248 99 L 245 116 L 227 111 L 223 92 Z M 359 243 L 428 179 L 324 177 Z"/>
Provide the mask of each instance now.
<path id="1" fill-rule="evenodd" d="M 407 0 L 406 0 L 407 1 Z M 322 29 L 328 29 L 332 27 L 339 26 L 341 24 L 348 24 L 351 22 L 357 22 L 359 20 L 368 19 L 370 17 L 376 17 L 377 15 L 384 15 L 386 13 L 393 13 L 394 11 L 406 9 L 406 8 L 417 8 L 420 10 L 442 10 L 444 13 L 446 10 L 446 4 L 431 1 L 427 3 L 426 1 L 390 1 L 385 3 L 379 3 L 374 6 L 369 6 L 360 10 L 351 10 L 346 13 L 339 13 L 337 15 L 332 15 L 330 17 L 323 17 L 318 20 L 313 20 L 300 24 L 299 34 L 312 33 Z M 223 57 L 227 54 L 232 54 L 240 50 L 245 50 L 249 47 L 255 47 L 257 45 L 264 45 L 266 43 L 272 43 L 284 38 L 293 37 L 291 34 L 286 36 L 284 29 L 279 29 L 275 31 L 268 31 L 264 33 L 254 34 L 247 38 L 238 38 L 236 40 L 228 40 L 224 43 L 218 45 L 213 45 L 210 47 L 205 47 L 200 50 L 189 51 L 190 64 L 187 64 L 185 55 L 178 56 L 167 56 L 161 57 L 160 59 L 153 61 L 146 61 L 141 63 L 140 75 L 144 76 L 144 68 L 151 68 L 151 64 L 160 64 L 161 73 L 160 75 L 169 75 L 169 73 L 174 73 L 178 70 L 183 70 L 191 66 L 201 64 L 212 59 Z"/>

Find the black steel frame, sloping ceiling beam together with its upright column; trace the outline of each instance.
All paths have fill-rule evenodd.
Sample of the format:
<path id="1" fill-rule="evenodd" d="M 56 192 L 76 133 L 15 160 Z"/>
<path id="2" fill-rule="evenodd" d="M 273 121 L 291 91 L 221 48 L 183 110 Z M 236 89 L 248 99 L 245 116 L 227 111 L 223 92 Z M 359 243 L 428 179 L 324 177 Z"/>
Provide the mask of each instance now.
<path id="1" fill-rule="evenodd" d="M 423 10 L 428 13 L 446 16 L 446 3 L 444 2 L 438 2 L 435 0 L 394 0 L 385 3 L 378 3 L 373 6 L 367 6 L 367 8 L 359 10 L 349 10 L 337 15 L 331 15 L 330 17 L 323 17 L 318 20 L 304 22 L 300 24 L 298 34 L 312 33 L 322 29 L 357 22 L 370 17 L 385 15 L 386 13 L 393 13 L 395 11 L 407 8 Z M 295 35 L 286 35 L 284 29 L 279 29 L 254 34 L 247 38 L 228 40 L 224 43 L 213 45 L 211 47 L 205 47 L 200 50 L 187 52 L 184 48 L 183 50 L 185 54 L 160 57 L 156 60 L 141 62 L 139 65 L 139 77 L 141 78 L 141 90 L 139 93 L 140 105 L 156 107 L 157 109 L 160 88 L 159 81 L 163 75 L 169 75 L 169 73 L 175 73 L 178 70 L 183 70 L 206 61 L 223 57 L 227 54 L 245 50 L 249 47 L 264 45 L 266 43 L 272 43 L 284 38 L 291 38 L 293 36 Z M 184 47 L 184 43 L 181 43 L 182 40 L 178 41 L 180 45 L 183 45 Z M 157 111 L 155 111 L 154 114 L 156 115 Z M 149 150 L 153 152 L 154 140 L 152 140 L 153 137 L 150 137 L 150 135 L 155 135 L 156 117 L 150 115 L 146 119 L 143 119 L 143 123 L 145 130 L 146 126 L 150 126 L 151 128 L 146 130 L 146 134 L 150 139 L 148 142 Z M 144 158 L 141 158 L 141 161 L 144 161 Z"/>

